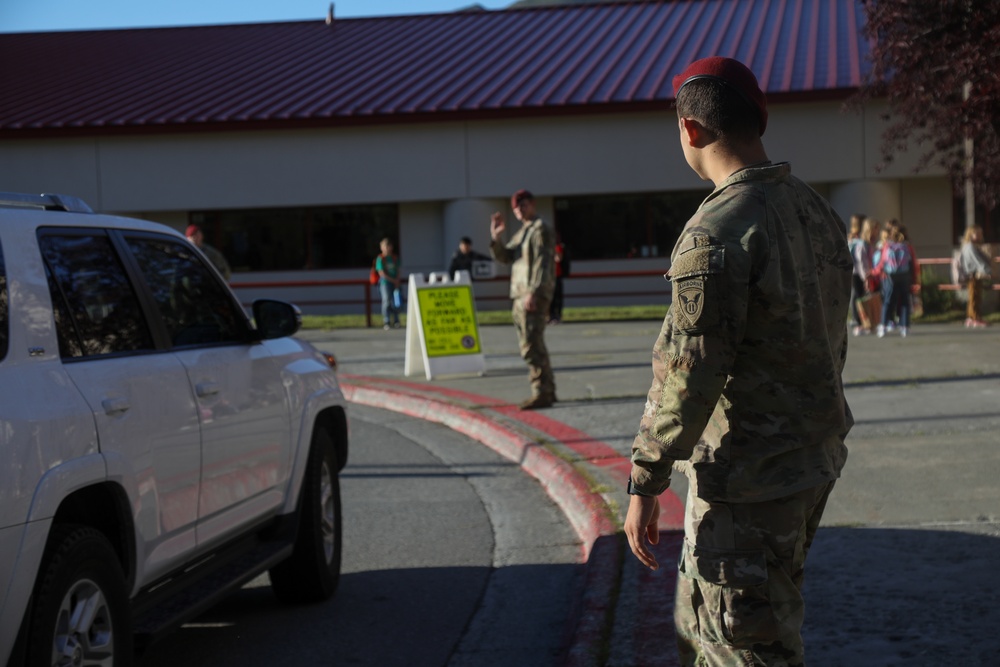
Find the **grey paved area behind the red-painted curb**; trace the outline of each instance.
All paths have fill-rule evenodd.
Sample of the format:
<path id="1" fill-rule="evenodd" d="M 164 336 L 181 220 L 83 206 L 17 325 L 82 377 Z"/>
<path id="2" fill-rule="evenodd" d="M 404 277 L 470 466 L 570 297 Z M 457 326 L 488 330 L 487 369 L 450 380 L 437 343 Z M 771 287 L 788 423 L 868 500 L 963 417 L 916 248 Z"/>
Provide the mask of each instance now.
<path id="1" fill-rule="evenodd" d="M 553 327 L 546 339 L 560 402 L 545 417 L 627 454 L 657 329 Z M 310 337 L 335 352 L 355 382 L 401 378 L 402 332 Z M 483 338 L 486 375 L 406 380 L 516 403 L 527 382 L 512 330 L 484 327 Z M 844 379 L 856 424 L 807 567 L 808 664 L 996 664 L 1000 612 L 987 582 L 1000 562 L 1000 327 L 921 324 L 906 339 L 852 338 Z M 607 484 L 607 497 L 623 506 L 620 477 Z M 680 483 L 672 491 L 684 495 Z M 645 579 L 636 563 L 625 559 L 605 667 L 669 664 L 672 654 L 669 608 L 658 618 L 649 613 L 665 602 L 650 599 L 650 584 L 669 590 L 670 583 Z"/>

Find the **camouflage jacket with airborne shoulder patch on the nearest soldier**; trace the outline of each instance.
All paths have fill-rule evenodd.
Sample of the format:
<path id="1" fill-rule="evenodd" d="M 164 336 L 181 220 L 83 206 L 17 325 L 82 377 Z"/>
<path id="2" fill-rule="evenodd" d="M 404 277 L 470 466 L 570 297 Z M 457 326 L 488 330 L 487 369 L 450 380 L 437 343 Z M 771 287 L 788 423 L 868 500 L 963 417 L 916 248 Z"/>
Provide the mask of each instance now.
<path id="1" fill-rule="evenodd" d="M 662 493 L 675 462 L 713 501 L 839 477 L 854 423 L 841 380 L 852 269 L 840 217 L 787 163 L 719 184 L 671 255 L 634 489 Z"/>

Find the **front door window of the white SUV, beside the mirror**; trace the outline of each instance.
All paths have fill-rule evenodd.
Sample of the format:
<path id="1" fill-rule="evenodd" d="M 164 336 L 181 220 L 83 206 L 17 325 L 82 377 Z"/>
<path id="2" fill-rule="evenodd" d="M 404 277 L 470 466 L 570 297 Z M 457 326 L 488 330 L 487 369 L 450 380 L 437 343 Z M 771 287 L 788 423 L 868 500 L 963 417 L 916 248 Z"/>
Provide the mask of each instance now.
<path id="1" fill-rule="evenodd" d="M 127 236 L 175 347 L 242 343 L 243 311 L 188 245 L 167 238 Z"/>

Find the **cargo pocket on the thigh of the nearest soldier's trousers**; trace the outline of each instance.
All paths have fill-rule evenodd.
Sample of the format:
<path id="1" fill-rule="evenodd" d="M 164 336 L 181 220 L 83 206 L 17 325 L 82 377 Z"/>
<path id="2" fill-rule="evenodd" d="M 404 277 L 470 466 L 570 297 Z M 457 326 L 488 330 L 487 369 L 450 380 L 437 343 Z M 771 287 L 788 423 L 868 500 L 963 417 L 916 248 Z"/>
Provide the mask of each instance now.
<path id="1" fill-rule="evenodd" d="M 697 616 L 703 640 L 750 648 L 780 638 L 763 550 L 720 551 L 685 541 L 680 571 L 701 592 Z"/>

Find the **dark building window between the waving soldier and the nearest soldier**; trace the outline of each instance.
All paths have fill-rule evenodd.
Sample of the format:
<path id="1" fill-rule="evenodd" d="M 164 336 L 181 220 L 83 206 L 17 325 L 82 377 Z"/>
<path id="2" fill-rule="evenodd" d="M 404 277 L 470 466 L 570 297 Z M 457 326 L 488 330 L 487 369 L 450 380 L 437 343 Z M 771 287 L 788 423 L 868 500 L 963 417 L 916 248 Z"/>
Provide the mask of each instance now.
<path id="1" fill-rule="evenodd" d="M 556 230 L 573 259 L 667 257 L 707 191 L 557 197 Z"/>

